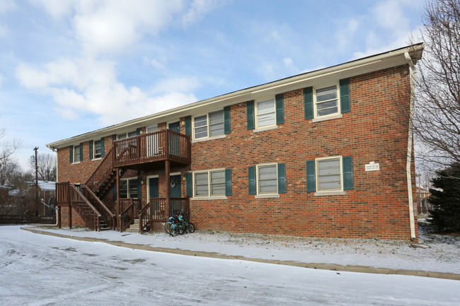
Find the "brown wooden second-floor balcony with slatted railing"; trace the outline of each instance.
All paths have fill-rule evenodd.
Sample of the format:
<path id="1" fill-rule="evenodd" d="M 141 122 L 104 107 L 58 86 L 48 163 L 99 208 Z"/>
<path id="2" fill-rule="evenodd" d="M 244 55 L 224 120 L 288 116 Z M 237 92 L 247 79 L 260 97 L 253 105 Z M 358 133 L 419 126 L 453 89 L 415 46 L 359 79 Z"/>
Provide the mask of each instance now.
<path id="1" fill-rule="evenodd" d="M 114 167 L 145 167 L 164 160 L 172 164 L 190 164 L 190 136 L 165 129 L 113 142 Z"/>

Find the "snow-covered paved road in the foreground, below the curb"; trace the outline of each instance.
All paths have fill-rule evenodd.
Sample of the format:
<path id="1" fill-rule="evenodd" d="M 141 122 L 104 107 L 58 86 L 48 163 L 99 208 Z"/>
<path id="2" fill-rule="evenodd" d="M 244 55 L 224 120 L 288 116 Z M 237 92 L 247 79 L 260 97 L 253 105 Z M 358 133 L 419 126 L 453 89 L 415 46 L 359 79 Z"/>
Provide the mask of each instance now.
<path id="1" fill-rule="evenodd" d="M 460 305 L 459 292 L 460 281 L 187 257 L 0 226 L 0 305 Z"/>

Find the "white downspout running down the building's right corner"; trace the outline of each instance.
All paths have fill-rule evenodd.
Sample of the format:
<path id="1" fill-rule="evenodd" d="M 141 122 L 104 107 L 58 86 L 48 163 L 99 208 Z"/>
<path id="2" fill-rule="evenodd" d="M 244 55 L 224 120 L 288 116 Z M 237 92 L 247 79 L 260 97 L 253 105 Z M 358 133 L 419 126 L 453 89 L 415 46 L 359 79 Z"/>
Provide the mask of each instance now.
<path id="1" fill-rule="evenodd" d="M 406 164 L 406 176 L 408 180 L 408 199 L 409 199 L 409 222 L 410 222 L 410 240 L 415 240 L 415 218 L 414 218 L 414 203 L 413 203 L 413 189 L 412 189 L 412 175 L 410 173 L 410 165 L 412 163 L 412 145 L 413 145 L 413 117 L 414 117 L 414 95 L 415 95 L 415 73 L 417 69 L 410 58 L 408 52 L 404 53 L 406 61 L 412 70 L 410 76 L 410 110 L 409 110 L 409 131 L 408 131 L 408 153 Z"/>

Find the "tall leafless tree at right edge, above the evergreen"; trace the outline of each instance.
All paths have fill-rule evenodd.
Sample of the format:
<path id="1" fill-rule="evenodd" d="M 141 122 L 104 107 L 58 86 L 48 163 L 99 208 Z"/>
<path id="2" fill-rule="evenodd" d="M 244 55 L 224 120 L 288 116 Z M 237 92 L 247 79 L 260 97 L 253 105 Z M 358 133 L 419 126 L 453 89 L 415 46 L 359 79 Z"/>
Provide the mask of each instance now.
<path id="1" fill-rule="evenodd" d="M 460 0 L 428 3 L 422 21 L 415 139 L 425 165 L 444 168 L 460 162 Z"/>

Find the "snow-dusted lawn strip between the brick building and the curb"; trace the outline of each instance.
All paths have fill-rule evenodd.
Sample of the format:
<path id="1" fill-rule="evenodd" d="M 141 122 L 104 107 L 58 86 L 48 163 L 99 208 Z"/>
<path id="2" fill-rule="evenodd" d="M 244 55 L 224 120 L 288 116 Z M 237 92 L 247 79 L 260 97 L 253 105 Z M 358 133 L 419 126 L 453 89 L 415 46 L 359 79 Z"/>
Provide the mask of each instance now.
<path id="1" fill-rule="evenodd" d="M 54 228 L 47 231 L 254 259 L 460 273 L 460 237 L 435 235 L 422 227 L 419 229 L 418 244 L 422 247 L 411 247 L 408 241 L 301 238 L 205 230 L 176 237 L 164 232 L 139 235 L 115 231 L 93 232 L 84 228 Z"/>

